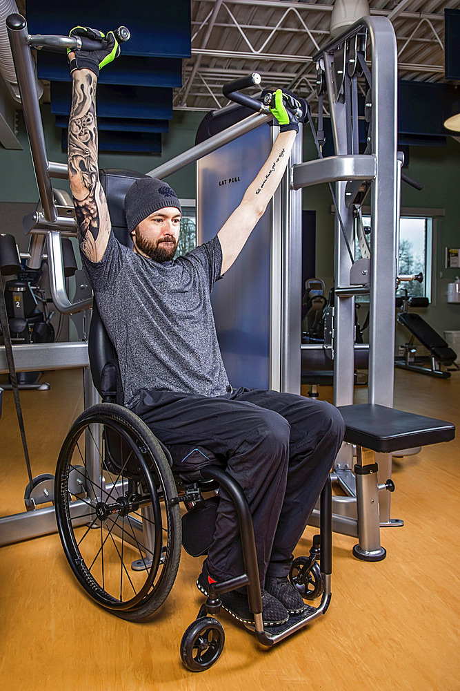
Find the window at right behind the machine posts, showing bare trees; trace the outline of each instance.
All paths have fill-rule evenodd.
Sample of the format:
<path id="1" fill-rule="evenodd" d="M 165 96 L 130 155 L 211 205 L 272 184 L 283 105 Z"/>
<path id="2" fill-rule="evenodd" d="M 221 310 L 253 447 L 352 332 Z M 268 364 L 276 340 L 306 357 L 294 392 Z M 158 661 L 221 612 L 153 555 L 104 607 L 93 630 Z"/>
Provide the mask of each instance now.
<path id="1" fill-rule="evenodd" d="M 363 226 L 370 227 L 370 216 L 363 216 Z M 431 301 L 432 218 L 428 216 L 401 216 L 399 221 L 398 274 L 423 274 L 423 282 L 403 281 L 397 288 L 397 296 L 422 296 Z M 369 236 L 368 236 L 369 238 Z M 369 240 L 368 240 L 369 242 Z M 354 256 L 361 251 L 355 241 Z"/>

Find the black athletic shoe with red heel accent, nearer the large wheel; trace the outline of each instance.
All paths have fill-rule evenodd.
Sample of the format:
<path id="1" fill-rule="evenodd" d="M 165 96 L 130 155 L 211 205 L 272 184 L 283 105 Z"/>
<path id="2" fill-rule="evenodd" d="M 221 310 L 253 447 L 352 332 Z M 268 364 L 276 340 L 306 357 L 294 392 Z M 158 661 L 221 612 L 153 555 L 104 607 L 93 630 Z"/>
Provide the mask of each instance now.
<path id="1" fill-rule="evenodd" d="M 197 579 L 197 588 L 208 596 L 209 580 L 206 563 Z M 212 576 L 211 576 L 212 578 Z M 212 580 L 215 580 L 214 578 Z M 254 624 L 254 614 L 249 609 L 248 596 L 232 590 L 219 596 L 222 608 L 243 624 Z M 262 619 L 265 626 L 279 626 L 286 623 L 289 614 L 286 608 L 267 591 L 262 591 Z"/>

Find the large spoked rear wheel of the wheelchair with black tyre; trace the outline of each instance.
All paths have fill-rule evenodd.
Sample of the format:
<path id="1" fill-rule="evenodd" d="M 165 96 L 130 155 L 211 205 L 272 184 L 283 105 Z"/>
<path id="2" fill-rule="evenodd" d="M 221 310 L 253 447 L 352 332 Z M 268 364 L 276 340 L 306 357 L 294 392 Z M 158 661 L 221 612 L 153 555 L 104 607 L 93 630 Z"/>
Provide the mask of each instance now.
<path id="1" fill-rule="evenodd" d="M 54 502 L 86 592 L 121 618 L 152 616 L 179 568 L 181 515 L 168 460 L 146 424 L 109 403 L 80 415 L 59 453 Z"/>

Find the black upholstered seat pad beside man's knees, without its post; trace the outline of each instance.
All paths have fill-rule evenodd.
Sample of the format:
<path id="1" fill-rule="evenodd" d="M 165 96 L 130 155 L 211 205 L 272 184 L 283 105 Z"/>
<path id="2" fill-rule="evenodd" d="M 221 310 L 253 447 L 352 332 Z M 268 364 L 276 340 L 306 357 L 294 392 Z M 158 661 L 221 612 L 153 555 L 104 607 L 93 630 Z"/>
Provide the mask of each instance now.
<path id="1" fill-rule="evenodd" d="M 450 442 L 455 436 L 451 422 L 386 406 L 359 404 L 338 409 L 346 424 L 345 441 L 379 453 Z"/>

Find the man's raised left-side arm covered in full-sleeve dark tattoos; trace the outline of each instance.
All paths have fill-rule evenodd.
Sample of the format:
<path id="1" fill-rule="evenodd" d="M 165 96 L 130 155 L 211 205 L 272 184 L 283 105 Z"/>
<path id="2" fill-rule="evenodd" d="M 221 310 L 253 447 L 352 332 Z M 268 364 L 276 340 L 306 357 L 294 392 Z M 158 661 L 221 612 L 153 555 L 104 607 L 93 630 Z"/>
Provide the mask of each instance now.
<path id="1" fill-rule="evenodd" d="M 106 252 L 111 225 L 97 164 L 97 76 L 91 70 L 77 69 L 72 72 L 72 82 L 68 129 L 70 190 L 81 251 L 98 262 Z"/>

